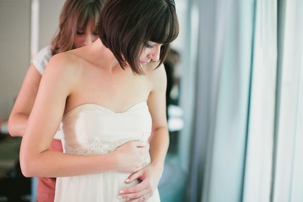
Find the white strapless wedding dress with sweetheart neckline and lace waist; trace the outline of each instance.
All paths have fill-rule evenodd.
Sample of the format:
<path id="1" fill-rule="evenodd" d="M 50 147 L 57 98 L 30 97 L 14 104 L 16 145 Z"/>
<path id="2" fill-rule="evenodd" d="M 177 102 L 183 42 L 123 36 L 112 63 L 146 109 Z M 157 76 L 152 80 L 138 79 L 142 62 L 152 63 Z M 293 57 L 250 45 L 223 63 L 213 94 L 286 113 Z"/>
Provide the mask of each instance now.
<path id="1" fill-rule="evenodd" d="M 140 102 L 123 113 L 115 113 L 95 104 L 84 104 L 64 115 L 62 123 L 64 153 L 74 155 L 111 153 L 127 141 L 147 140 L 151 132 L 151 117 L 146 102 Z M 150 157 L 147 157 L 146 165 L 149 163 Z M 117 196 L 121 189 L 139 183 L 134 181 L 126 184 L 124 181 L 130 174 L 106 172 L 58 177 L 55 201 L 128 201 Z M 156 190 L 148 202 L 159 201 L 159 192 Z"/>

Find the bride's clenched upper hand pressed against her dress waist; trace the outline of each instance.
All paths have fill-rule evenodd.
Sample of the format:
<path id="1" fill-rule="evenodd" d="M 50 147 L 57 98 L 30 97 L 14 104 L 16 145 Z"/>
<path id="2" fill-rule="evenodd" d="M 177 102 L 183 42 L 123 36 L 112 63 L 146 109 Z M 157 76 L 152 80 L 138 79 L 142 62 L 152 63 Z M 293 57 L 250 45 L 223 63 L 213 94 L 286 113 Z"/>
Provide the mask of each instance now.
<path id="1" fill-rule="evenodd" d="M 142 141 L 129 141 L 119 146 L 117 154 L 117 171 L 134 173 L 142 169 L 149 155 L 149 144 Z"/>

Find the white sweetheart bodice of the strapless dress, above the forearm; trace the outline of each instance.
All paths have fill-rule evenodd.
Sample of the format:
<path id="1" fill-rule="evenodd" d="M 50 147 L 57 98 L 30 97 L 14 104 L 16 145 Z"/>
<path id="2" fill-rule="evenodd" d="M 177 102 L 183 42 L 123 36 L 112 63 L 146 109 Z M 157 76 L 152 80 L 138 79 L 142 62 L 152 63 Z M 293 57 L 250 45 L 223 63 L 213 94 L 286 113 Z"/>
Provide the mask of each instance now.
<path id="1" fill-rule="evenodd" d="M 110 153 L 127 141 L 146 141 L 151 131 L 146 102 L 122 113 L 84 104 L 65 114 L 62 123 L 64 152 L 77 155 Z"/>

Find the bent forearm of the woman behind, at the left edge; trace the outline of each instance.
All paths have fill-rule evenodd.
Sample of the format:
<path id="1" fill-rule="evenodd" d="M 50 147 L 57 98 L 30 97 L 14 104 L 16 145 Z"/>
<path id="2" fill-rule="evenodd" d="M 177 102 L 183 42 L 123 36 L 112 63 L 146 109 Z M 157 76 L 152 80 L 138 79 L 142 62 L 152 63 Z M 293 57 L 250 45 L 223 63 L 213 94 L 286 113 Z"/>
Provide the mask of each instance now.
<path id="1" fill-rule="evenodd" d="M 23 136 L 28 117 L 27 114 L 11 114 L 8 122 L 8 130 L 11 136 Z"/>

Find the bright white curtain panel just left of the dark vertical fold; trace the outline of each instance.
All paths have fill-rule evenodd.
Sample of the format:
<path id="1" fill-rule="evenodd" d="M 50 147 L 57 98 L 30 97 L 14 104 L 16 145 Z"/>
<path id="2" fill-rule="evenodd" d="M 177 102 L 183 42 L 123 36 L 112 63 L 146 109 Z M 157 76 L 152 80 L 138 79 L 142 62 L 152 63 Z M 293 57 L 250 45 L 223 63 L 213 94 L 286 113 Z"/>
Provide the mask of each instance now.
<path id="1" fill-rule="evenodd" d="M 277 1 L 256 1 L 243 201 L 270 201 L 277 75 Z"/>

